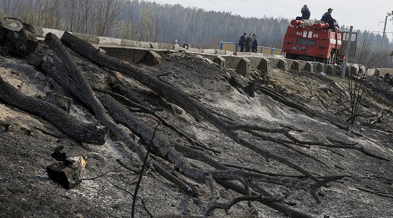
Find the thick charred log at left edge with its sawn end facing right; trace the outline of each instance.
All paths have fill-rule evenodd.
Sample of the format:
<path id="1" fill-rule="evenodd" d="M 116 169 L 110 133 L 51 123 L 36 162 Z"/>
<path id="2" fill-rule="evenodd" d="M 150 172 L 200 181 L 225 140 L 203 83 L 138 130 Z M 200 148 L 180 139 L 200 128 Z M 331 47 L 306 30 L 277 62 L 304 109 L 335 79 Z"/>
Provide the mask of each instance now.
<path id="1" fill-rule="evenodd" d="M 106 141 L 106 127 L 97 126 L 95 123 L 85 123 L 50 103 L 26 96 L 1 77 L 0 101 L 48 120 L 78 141 L 90 144 L 103 144 Z"/>

